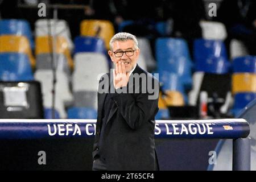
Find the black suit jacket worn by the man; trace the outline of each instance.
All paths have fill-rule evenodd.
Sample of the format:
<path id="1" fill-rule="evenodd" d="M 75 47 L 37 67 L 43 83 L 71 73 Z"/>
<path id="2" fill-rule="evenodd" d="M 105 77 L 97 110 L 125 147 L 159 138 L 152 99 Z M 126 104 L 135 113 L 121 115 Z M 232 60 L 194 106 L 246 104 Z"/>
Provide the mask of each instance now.
<path id="1" fill-rule="evenodd" d="M 133 73 L 144 73 L 138 65 Z M 108 77 L 110 77 L 108 73 Z M 150 73 L 148 73 L 150 74 Z M 106 75 L 105 75 L 106 76 Z M 103 76 L 104 77 L 104 76 Z M 108 85 L 113 79 L 104 79 Z M 150 75 L 153 85 L 156 83 L 157 98 L 149 100 L 148 90 L 142 93 L 142 81 L 135 88 L 131 84 L 131 77 L 126 87 L 131 85 L 139 89 L 139 93 L 115 93 L 112 97 L 114 106 L 106 121 L 104 134 L 101 134 L 102 110 L 106 93 L 98 93 L 98 116 L 96 123 L 96 137 L 93 146 L 93 159 L 97 154 L 104 160 L 108 170 L 155 170 L 157 158 L 155 154 L 154 130 L 155 115 L 158 112 L 159 81 Z M 148 78 L 147 78 L 148 80 Z M 99 88 L 101 89 L 101 88 Z M 101 138 L 102 137 L 102 138 Z M 101 139 L 101 142 L 99 142 Z"/>

